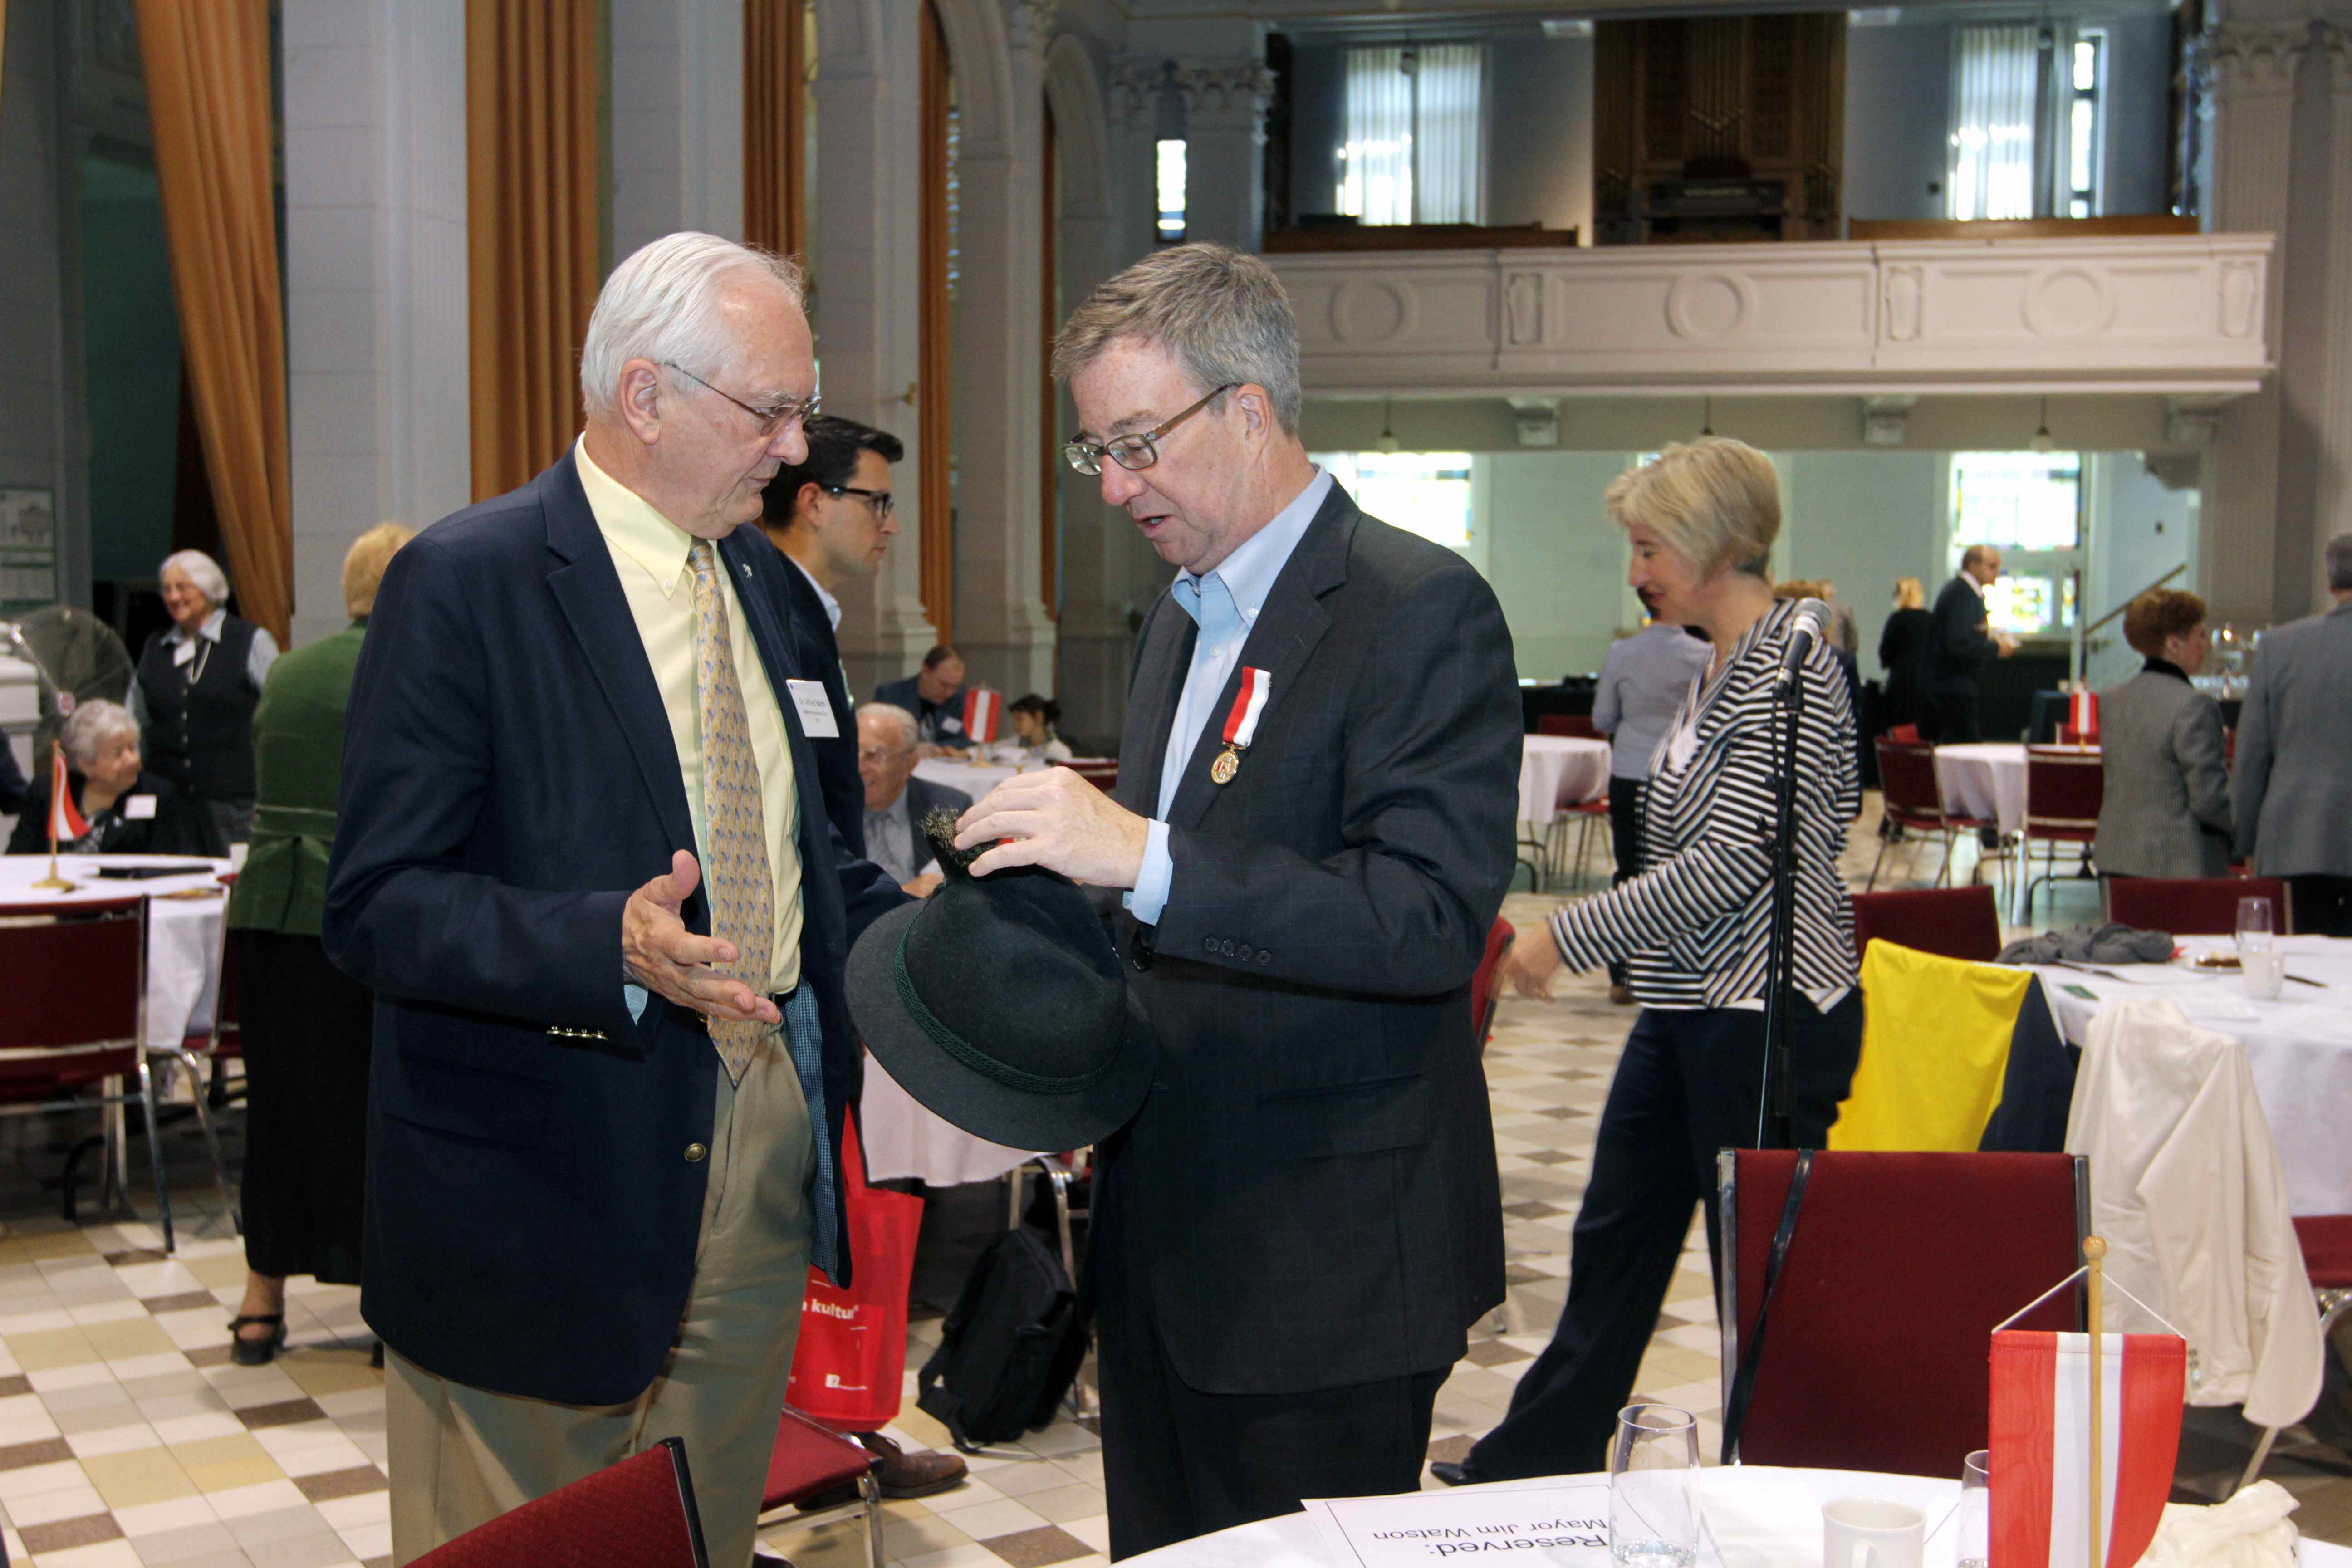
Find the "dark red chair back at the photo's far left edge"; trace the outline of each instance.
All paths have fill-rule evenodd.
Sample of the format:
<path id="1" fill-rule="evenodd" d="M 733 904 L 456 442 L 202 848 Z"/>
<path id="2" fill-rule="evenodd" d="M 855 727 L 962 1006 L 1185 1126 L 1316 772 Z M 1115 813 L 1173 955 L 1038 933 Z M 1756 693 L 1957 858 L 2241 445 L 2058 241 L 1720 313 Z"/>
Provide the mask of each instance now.
<path id="1" fill-rule="evenodd" d="M 139 1063 L 146 898 L 0 910 L 0 1098 L 49 1098 Z"/>

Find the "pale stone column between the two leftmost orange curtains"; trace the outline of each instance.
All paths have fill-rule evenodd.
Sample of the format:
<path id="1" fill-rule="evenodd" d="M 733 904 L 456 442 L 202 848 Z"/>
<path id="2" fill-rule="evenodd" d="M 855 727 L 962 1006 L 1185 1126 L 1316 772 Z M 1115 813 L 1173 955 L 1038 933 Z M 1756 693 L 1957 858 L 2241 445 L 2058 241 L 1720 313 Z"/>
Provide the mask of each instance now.
<path id="1" fill-rule="evenodd" d="M 473 501 L 466 5 L 285 0 L 294 642 L 343 625 L 343 550 Z"/>

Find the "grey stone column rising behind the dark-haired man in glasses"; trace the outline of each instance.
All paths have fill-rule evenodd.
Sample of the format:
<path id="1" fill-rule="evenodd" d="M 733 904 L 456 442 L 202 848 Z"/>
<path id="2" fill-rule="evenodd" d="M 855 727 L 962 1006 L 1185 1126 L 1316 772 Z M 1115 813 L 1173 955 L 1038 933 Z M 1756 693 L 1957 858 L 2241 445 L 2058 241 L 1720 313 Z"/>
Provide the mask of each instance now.
<path id="1" fill-rule="evenodd" d="M 842 583 L 849 693 L 917 665 L 938 632 L 922 614 L 922 498 L 915 473 L 915 374 L 922 364 L 922 71 L 920 5 L 816 0 L 816 148 L 811 313 L 826 407 L 906 442 L 891 477 L 898 536 L 882 571 Z"/>

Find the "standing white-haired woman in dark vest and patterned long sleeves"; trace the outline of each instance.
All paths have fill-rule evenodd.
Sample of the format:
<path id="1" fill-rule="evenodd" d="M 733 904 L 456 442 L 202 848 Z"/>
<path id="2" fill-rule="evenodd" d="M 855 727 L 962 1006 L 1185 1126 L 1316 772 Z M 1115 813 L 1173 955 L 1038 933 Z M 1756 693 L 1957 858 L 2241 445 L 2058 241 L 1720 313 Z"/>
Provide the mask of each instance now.
<path id="1" fill-rule="evenodd" d="M 278 642 L 228 614 L 228 576 L 202 550 L 167 555 L 158 578 L 172 625 L 139 654 L 132 717 L 148 766 L 207 835 L 202 853 L 226 856 L 254 818 L 254 703 Z"/>

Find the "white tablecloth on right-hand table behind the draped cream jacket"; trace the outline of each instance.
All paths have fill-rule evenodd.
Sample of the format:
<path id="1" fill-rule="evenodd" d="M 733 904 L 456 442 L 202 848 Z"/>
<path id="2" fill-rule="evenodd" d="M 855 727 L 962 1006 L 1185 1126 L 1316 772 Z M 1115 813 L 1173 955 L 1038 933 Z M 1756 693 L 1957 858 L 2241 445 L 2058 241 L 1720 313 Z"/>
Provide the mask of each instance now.
<path id="1" fill-rule="evenodd" d="M 2185 936 L 2190 952 L 2234 947 L 2225 936 Z M 2288 980 L 2277 1001 L 2253 1001 L 2234 971 L 2183 964 L 2117 964 L 2110 978 L 2077 969 L 2037 969 L 2058 1030 L 2084 1044 L 2091 1018 L 2122 997 L 2164 997 L 2190 1023 L 2246 1046 L 2253 1093 L 2286 1166 L 2286 1206 L 2303 1215 L 2352 1213 L 2352 940 L 2281 936 Z M 2074 990 L 2091 992 L 2077 997 Z"/>

